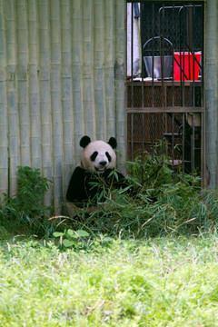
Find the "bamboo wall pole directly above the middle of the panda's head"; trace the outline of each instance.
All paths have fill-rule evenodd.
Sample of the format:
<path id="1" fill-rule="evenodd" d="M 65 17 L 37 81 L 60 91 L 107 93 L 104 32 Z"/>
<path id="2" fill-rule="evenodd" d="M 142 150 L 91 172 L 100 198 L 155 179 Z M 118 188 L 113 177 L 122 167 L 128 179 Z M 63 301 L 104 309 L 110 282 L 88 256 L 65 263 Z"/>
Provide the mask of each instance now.
<path id="1" fill-rule="evenodd" d="M 94 107 L 95 135 L 105 139 L 104 104 L 104 1 L 94 0 Z"/>

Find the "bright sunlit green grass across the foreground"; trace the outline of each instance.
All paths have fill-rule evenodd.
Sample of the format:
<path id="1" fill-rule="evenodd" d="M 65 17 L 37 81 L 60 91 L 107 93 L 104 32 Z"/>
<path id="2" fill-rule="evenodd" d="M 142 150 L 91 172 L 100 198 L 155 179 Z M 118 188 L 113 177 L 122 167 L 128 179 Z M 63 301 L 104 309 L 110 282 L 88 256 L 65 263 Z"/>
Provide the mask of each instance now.
<path id="1" fill-rule="evenodd" d="M 217 253 L 213 234 L 82 251 L 2 241 L 1 326 L 218 326 Z"/>

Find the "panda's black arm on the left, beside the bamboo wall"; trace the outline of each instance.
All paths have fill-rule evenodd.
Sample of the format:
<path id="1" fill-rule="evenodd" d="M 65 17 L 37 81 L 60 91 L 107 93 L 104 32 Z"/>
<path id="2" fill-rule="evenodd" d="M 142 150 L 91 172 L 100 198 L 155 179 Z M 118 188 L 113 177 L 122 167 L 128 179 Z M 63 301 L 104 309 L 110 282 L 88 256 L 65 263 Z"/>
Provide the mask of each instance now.
<path id="1" fill-rule="evenodd" d="M 81 203 L 88 199 L 85 192 L 85 178 L 87 174 L 81 167 L 75 167 L 66 191 L 66 199 L 72 203 Z"/>

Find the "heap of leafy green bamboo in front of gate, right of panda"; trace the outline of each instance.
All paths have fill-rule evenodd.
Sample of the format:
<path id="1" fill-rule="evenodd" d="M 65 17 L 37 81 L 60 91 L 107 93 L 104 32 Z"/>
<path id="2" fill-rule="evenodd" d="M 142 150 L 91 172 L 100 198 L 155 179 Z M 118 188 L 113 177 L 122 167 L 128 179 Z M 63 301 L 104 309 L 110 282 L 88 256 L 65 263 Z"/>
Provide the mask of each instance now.
<path id="1" fill-rule="evenodd" d="M 74 229 L 141 238 L 216 228 L 217 192 L 202 189 L 199 176 L 174 172 L 169 158 L 158 154 L 144 154 L 144 163 L 138 157 L 128 169 L 134 192 L 110 190 L 104 202 L 99 194 L 92 210 L 85 205 L 72 213 Z"/>

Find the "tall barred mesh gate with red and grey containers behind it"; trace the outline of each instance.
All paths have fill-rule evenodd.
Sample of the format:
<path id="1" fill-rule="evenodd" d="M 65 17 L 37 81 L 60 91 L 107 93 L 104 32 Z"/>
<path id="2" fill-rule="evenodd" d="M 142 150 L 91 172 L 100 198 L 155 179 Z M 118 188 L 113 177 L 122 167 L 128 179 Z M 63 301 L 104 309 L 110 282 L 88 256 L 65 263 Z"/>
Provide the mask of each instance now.
<path id="1" fill-rule="evenodd" d="M 203 173 L 203 2 L 127 3 L 126 113 L 130 160 Z"/>

